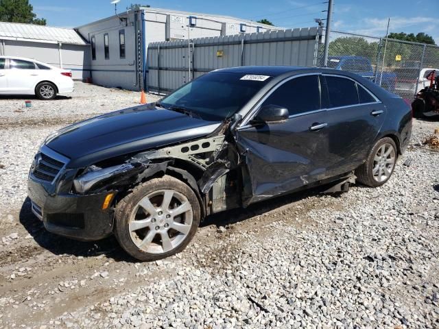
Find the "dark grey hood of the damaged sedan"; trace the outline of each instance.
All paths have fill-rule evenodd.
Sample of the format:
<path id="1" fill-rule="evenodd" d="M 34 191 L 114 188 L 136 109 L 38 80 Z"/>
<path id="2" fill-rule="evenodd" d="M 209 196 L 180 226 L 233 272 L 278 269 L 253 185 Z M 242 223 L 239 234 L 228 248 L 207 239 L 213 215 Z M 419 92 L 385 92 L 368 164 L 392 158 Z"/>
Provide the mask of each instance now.
<path id="1" fill-rule="evenodd" d="M 86 167 L 115 156 L 206 136 L 218 122 L 195 119 L 154 104 L 136 106 L 75 123 L 50 135 L 46 145 Z"/>

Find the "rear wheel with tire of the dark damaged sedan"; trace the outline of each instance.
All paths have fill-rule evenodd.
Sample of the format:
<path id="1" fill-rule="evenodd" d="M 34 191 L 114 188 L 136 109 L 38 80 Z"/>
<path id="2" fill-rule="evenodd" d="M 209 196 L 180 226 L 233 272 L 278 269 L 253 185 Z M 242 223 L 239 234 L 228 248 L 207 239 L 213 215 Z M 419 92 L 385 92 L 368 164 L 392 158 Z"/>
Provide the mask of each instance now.
<path id="1" fill-rule="evenodd" d="M 366 162 L 355 171 L 357 181 L 370 187 L 385 184 L 395 169 L 397 152 L 392 138 L 385 137 L 377 141 Z"/>

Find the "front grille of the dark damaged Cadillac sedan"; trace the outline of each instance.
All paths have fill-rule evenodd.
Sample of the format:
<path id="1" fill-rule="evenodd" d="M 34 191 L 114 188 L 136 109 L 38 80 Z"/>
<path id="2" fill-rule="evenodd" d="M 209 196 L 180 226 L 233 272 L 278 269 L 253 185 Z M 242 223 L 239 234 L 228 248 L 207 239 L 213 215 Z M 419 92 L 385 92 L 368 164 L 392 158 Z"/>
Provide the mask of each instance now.
<path id="1" fill-rule="evenodd" d="M 54 182 L 69 159 L 43 145 L 32 163 L 34 178 L 45 182 Z"/>

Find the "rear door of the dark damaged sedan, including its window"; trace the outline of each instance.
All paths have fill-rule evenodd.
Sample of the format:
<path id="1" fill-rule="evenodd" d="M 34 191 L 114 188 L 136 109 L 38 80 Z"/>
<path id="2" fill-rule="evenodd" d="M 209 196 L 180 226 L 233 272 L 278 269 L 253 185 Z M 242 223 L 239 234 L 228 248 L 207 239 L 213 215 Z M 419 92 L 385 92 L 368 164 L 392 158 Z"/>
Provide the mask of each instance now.
<path id="1" fill-rule="evenodd" d="M 324 75 L 322 97 L 327 108 L 329 176 L 351 171 L 366 160 L 383 125 L 386 108 L 355 80 Z"/>

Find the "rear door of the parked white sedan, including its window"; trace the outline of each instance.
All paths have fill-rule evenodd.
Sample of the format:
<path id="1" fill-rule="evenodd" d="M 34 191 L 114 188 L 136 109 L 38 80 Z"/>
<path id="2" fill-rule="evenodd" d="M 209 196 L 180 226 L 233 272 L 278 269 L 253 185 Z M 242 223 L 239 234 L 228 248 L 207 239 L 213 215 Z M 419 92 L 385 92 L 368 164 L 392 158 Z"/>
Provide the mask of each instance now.
<path id="1" fill-rule="evenodd" d="M 35 63 L 10 58 L 9 67 L 8 90 L 11 93 L 34 93 L 39 73 Z"/>

